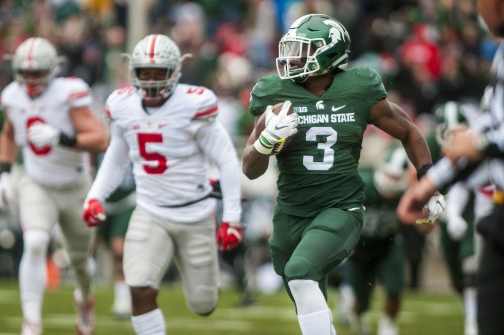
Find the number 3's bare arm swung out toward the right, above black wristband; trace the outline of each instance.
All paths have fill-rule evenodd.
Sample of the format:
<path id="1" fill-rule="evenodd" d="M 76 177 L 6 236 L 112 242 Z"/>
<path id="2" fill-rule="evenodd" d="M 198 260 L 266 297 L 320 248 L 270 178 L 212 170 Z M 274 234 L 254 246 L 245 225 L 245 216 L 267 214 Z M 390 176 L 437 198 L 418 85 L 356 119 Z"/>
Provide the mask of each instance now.
<path id="1" fill-rule="evenodd" d="M 397 104 L 382 99 L 373 106 L 369 123 L 399 139 L 418 171 L 432 163 L 430 151 L 420 130 Z"/>

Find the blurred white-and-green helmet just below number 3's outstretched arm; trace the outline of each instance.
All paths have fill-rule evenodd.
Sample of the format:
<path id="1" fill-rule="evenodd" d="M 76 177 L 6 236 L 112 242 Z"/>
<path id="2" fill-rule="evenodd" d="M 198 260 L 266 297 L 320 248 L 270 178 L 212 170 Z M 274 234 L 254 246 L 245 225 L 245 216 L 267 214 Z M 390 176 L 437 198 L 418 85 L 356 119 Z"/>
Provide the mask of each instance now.
<path id="1" fill-rule="evenodd" d="M 386 198 L 399 197 L 408 188 L 409 159 L 403 147 L 388 150 L 385 160 L 374 171 L 373 184 Z"/>

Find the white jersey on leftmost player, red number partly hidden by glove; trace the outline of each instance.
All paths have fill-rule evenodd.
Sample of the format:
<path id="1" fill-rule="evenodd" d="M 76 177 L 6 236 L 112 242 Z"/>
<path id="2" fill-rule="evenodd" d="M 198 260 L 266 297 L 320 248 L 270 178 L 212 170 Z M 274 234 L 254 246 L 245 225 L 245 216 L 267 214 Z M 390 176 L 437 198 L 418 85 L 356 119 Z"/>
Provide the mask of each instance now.
<path id="1" fill-rule="evenodd" d="M 26 173 L 33 180 L 56 187 L 89 178 L 88 153 L 61 145 L 36 147 L 26 139 L 27 128 L 36 122 L 76 134 L 69 110 L 91 105 L 91 90 L 82 79 L 54 78 L 34 99 L 23 84 L 14 81 L 2 92 L 2 105 L 14 127 L 16 144 L 22 147 Z"/>

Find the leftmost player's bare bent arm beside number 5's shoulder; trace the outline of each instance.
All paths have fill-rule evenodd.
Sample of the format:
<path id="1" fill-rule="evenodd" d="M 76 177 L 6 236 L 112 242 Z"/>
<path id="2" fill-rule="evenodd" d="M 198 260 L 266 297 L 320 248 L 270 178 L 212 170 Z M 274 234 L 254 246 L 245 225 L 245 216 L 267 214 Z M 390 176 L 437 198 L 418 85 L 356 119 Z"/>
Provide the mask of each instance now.
<path id="1" fill-rule="evenodd" d="M 74 107 L 69 111 L 77 131 L 76 149 L 103 152 L 107 149 L 108 138 L 103 125 L 88 106 Z"/>

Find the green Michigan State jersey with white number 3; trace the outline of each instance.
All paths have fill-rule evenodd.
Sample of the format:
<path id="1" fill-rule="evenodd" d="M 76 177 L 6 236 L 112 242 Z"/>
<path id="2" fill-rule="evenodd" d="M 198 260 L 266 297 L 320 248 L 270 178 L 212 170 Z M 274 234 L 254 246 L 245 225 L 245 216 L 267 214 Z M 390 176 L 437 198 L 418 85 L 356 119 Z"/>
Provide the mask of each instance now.
<path id="1" fill-rule="evenodd" d="M 335 74 L 321 96 L 277 76 L 254 86 L 254 116 L 285 100 L 298 114 L 297 134 L 277 155 L 277 203 L 285 213 L 312 217 L 326 208 L 362 204 L 364 183 L 357 173 L 362 136 L 373 105 L 386 97 L 380 75 L 366 67 Z"/>

